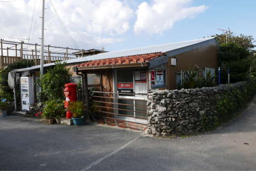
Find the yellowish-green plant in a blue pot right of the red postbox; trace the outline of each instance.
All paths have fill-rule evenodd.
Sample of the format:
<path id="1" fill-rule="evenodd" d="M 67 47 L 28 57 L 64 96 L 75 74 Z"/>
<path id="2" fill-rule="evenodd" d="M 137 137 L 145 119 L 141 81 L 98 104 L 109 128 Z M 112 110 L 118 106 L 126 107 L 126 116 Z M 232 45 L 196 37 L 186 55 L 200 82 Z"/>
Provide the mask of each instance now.
<path id="1" fill-rule="evenodd" d="M 82 125 L 83 124 L 83 110 L 86 110 L 84 108 L 86 104 L 82 104 L 82 101 L 70 101 L 69 102 L 69 108 L 67 110 L 71 111 L 73 113 L 73 121 L 75 125 Z"/>

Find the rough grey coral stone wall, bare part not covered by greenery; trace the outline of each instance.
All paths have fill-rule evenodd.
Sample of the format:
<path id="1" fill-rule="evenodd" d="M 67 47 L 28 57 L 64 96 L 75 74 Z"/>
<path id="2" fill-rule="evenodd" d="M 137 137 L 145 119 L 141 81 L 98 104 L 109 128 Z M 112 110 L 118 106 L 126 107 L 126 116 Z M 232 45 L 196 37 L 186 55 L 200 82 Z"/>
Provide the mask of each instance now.
<path id="1" fill-rule="evenodd" d="M 220 113 L 216 112 L 218 98 L 233 88 L 240 91 L 245 84 L 246 81 L 241 81 L 230 86 L 148 92 L 148 134 L 180 136 L 202 131 L 203 119 L 207 120 L 208 125 L 215 122 L 214 117 L 223 119 Z"/>

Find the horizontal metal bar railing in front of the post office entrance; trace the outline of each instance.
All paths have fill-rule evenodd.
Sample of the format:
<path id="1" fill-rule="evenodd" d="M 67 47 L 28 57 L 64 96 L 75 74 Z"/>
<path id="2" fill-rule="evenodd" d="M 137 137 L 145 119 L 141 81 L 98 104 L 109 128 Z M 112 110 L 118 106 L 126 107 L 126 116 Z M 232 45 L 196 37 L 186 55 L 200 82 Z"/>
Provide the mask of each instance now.
<path id="1" fill-rule="evenodd" d="M 100 93 L 102 94 L 103 93 L 103 96 L 95 96 L 93 95 L 94 93 Z M 130 127 L 129 124 L 126 124 L 125 125 L 120 125 L 118 124 L 118 121 L 125 121 L 125 122 L 131 122 L 131 123 L 135 123 L 135 124 L 142 124 L 142 125 L 147 125 L 146 123 L 141 123 L 141 122 L 136 122 L 136 121 L 131 121 L 131 120 L 123 120 L 123 119 L 119 119 L 119 116 L 122 116 L 122 117 L 129 117 L 129 118 L 134 118 L 134 119 L 144 119 L 146 120 L 145 118 L 141 118 L 141 117 L 136 117 L 135 116 L 130 116 L 130 115 L 123 115 L 123 114 L 119 114 L 119 111 L 126 111 L 126 112 L 133 112 L 133 113 L 143 113 L 143 114 L 146 114 L 146 112 L 143 112 L 143 111 L 136 111 L 135 108 L 138 107 L 138 108 L 147 108 L 146 105 L 135 105 L 135 104 L 124 104 L 124 103 L 120 103 L 118 102 L 118 100 L 133 100 L 133 101 L 142 101 L 142 102 L 146 102 L 146 100 L 141 100 L 141 99 L 135 99 L 135 98 L 119 98 L 119 94 L 122 94 L 122 95 L 129 95 L 129 96 L 142 96 L 142 95 L 139 95 L 139 94 L 129 94 L 129 93 L 112 93 L 112 92 L 96 92 L 96 91 L 93 91 L 93 94 L 91 96 L 91 98 L 94 98 L 92 101 L 93 101 L 93 105 L 92 105 L 92 110 L 93 111 L 91 113 L 91 115 L 93 116 L 97 116 L 97 117 L 103 117 L 103 118 L 106 118 L 106 119 L 113 119 L 115 121 L 115 123 L 113 122 L 108 122 L 106 120 L 107 123 L 109 124 L 114 124 L 114 125 L 117 125 L 117 126 L 123 126 L 123 127 L 127 127 L 127 128 L 132 128 L 132 129 L 136 129 L 136 130 L 141 130 L 143 131 L 143 129 L 137 129 L 135 127 Z M 110 94 L 113 95 L 113 97 L 109 97 Z M 104 96 L 105 95 L 105 96 Z M 117 97 L 116 97 L 117 96 Z M 95 98 L 98 98 L 100 100 L 95 100 Z M 112 101 L 113 102 L 112 102 Z M 117 102 L 116 102 L 117 100 Z M 97 103 L 97 105 L 95 105 L 95 103 Z M 103 106 L 103 105 L 106 105 L 106 106 Z M 113 108 L 110 107 L 110 104 L 113 104 Z M 119 106 L 134 106 L 134 110 L 127 110 L 127 109 L 120 109 Z M 104 110 L 101 110 L 101 109 L 105 109 Z M 111 110 L 113 112 L 111 112 Z M 101 114 L 101 115 L 96 115 L 95 112 Z M 105 115 L 111 115 L 111 117 L 108 117 L 108 116 L 104 116 Z"/>

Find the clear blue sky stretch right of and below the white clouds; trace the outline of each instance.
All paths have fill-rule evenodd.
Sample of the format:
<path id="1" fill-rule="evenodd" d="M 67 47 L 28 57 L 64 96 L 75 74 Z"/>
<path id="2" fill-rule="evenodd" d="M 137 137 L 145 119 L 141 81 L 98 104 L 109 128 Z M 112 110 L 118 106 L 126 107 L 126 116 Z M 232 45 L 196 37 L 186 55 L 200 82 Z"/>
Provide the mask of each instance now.
<path id="1" fill-rule="evenodd" d="M 141 1 L 143 2 L 143 1 Z M 150 1 L 147 1 L 150 3 Z M 193 1 L 191 6 L 208 6 L 208 9 L 196 18 L 186 18 L 175 23 L 172 29 L 163 32 L 163 36 L 153 35 L 150 38 L 136 36 L 129 32 L 127 40 L 110 50 L 121 50 L 137 47 L 154 46 L 199 39 L 221 34 L 220 29 L 229 29 L 236 35 L 252 35 L 256 38 L 255 7 L 256 1 Z"/>

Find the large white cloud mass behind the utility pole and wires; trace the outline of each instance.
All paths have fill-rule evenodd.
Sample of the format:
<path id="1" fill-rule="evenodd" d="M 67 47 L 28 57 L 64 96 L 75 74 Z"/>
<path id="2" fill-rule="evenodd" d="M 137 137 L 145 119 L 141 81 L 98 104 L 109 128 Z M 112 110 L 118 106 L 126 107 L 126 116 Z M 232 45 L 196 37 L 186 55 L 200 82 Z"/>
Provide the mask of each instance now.
<path id="1" fill-rule="evenodd" d="M 32 26 L 37 23 L 32 43 L 40 44 L 41 37 L 41 6 L 36 1 L 35 14 Z M 29 36 L 31 19 L 35 0 L 17 0 L 13 3 L 0 3 L 0 37 Z M 116 38 L 130 29 L 129 20 L 134 16 L 133 10 L 126 2 L 118 0 L 52 0 L 52 3 L 63 24 L 75 40 L 80 49 L 108 47 L 115 42 L 123 41 Z M 45 45 L 74 48 L 61 27 L 55 11 L 46 1 L 45 10 Z M 32 35 L 32 33 L 31 33 Z M 108 50 L 108 49 L 106 49 Z"/>

